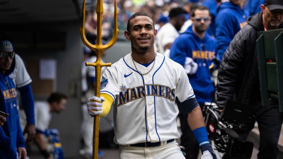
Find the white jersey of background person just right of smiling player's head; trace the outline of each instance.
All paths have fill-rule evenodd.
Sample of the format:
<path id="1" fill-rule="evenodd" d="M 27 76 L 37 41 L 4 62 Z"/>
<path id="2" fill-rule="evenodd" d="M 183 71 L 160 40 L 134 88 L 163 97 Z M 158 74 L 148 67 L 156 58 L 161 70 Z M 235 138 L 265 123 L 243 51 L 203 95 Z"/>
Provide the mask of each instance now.
<path id="1" fill-rule="evenodd" d="M 164 47 L 168 43 L 173 43 L 174 40 L 179 36 L 178 31 L 171 23 L 166 23 L 157 32 L 156 35 L 156 47 L 155 50 L 164 54 Z"/>

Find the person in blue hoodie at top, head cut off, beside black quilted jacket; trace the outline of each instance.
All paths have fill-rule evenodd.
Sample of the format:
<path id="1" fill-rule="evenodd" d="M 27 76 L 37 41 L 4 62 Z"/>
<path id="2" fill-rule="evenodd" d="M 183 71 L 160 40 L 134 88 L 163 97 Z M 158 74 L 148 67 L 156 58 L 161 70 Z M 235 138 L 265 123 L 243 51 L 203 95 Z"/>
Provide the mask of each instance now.
<path id="1" fill-rule="evenodd" d="M 217 8 L 215 37 L 218 50 L 217 59 L 219 61 L 221 61 L 235 34 L 247 25 L 249 16 L 244 0 L 230 0 L 230 2 L 221 3 Z"/>

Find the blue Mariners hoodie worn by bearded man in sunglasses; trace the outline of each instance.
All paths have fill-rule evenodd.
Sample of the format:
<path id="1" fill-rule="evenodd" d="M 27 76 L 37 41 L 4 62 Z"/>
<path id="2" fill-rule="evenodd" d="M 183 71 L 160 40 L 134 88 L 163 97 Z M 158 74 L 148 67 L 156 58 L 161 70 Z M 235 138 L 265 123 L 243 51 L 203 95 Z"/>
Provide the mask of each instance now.
<path id="1" fill-rule="evenodd" d="M 203 39 L 199 39 L 193 32 L 192 26 L 175 39 L 170 48 L 170 59 L 184 66 L 186 56 L 198 64 L 195 74 L 188 75 L 190 84 L 199 104 L 211 102 L 214 85 L 209 73 L 212 59 L 216 57 L 216 40 L 206 32 Z"/>

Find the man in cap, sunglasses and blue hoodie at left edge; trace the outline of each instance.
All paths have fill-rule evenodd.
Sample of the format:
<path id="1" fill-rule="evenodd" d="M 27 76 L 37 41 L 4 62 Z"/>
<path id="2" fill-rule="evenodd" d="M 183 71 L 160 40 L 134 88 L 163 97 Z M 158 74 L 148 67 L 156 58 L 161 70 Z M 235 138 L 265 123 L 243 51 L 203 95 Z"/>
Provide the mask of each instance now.
<path id="1" fill-rule="evenodd" d="M 0 111 L 8 113 L 6 123 L 0 127 L 1 159 L 26 159 L 25 139 L 19 122 L 16 88 L 9 77 L 14 70 L 15 56 L 13 44 L 9 40 L 0 41 Z M 17 153 L 19 154 L 17 156 Z"/>

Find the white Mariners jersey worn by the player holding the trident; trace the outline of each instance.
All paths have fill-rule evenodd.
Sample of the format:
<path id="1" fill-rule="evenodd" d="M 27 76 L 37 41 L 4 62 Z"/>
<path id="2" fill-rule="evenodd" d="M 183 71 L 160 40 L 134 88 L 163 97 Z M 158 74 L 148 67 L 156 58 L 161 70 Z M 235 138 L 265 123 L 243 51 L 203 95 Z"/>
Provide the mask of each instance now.
<path id="1" fill-rule="evenodd" d="M 145 73 L 153 63 L 148 67 L 135 65 Z M 175 99 L 183 102 L 195 98 L 183 67 L 158 52 L 153 69 L 143 76 L 135 69 L 131 54 L 108 67 L 103 74 L 101 93 L 107 93 L 115 101 L 114 142 L 119 145 L 180 137 Z"/>

